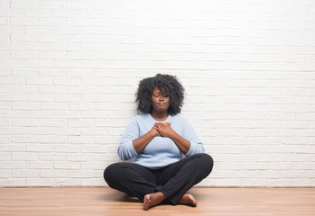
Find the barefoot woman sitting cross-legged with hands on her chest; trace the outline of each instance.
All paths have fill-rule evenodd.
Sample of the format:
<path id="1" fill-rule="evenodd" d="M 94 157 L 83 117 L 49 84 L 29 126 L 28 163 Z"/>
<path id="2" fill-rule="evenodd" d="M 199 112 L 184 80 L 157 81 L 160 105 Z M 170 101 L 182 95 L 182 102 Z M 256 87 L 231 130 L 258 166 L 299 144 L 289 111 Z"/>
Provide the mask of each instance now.
<path id="1" fill-rule="evenodd" d="M 197 206 L 186 192 L 207 177 L 213 166 L 190 123 L 179 115 L 184 88 L 176 76 L 144 78 L 136 93 L 138 111 L 118 147 L 122 160 L 107 166 L 107 184 L 144 202 Z"/>

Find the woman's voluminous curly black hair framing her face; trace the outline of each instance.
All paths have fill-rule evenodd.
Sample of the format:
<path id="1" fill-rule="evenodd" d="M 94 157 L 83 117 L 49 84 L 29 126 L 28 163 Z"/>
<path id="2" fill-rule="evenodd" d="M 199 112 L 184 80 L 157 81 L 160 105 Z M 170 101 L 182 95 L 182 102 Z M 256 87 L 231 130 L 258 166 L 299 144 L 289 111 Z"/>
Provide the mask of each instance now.
<path id="1" fill-rule="evenodd" d="M 138 103 L 137 110 L 143 113 L 151 113 L 153 111 L 151 97 L 154 86 L 158 87 L 162 94 L 166 94 L 170 97 L 168 112 L 171 115 L 181 113 L 185 89 L 176 76 L 162 74 L 144 78 L 140 81 L 135 94 L 135 102 Z"/>

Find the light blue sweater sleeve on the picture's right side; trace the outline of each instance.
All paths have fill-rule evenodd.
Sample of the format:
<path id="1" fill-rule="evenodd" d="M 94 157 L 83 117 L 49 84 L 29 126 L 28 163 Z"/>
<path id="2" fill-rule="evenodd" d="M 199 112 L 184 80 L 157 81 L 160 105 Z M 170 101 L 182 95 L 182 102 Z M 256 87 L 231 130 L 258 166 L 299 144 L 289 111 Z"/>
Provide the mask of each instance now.
<path id="1" fill-rule="evenodd" d="M 199 140 L 195 130 L 190 125 L 189 121 L 186 121 L 184 124 L 184 135 L 183 138 L 190 141 L 190 149 L 185 154 L 185 156 L 191 156 L 198 153 L 204 153 L 205 148 L 203 147 L 202 142 Z"/>

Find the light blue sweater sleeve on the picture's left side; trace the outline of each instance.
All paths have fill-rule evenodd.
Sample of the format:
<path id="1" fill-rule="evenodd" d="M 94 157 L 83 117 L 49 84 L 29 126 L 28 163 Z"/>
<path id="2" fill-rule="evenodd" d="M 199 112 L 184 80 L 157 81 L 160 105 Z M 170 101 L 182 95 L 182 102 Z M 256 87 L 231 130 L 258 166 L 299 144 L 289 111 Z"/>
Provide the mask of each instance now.
<path id="1" fill-rule="evenodd" d="M 136 157 L 138 154 L 134 150 L 133 140 L 139 138 L 139 126 L 134 118 L 125 130 L 125 134 L 120 139 L 117 149 L 117 154 L 122 160 L 129 160 Z"/>

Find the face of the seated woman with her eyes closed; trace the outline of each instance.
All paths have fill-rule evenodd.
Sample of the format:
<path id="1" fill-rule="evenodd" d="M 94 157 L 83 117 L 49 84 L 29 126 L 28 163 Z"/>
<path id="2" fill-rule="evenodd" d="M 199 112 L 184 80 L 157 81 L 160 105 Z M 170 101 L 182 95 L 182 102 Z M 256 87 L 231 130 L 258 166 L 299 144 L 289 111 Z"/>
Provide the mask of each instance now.
<path id="1" fill-rule="evenodd" d="M 151 96 L 153 112 L 167 112 L 170 106 L 169 95 L 162 94 L 160 89 L 156 86 L 153 88 L 153 93 Z"/>

